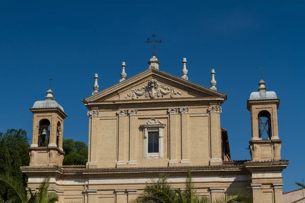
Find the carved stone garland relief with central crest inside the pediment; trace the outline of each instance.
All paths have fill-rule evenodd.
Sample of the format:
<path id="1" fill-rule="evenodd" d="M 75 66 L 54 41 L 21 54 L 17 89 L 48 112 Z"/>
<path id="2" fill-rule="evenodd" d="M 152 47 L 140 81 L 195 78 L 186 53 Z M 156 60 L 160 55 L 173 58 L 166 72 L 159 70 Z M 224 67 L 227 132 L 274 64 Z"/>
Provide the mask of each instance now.
<path id="1" fill-rule="evenodd" d="M 160 97 L 161 95 L 167 94 L 170 94 L 171 98 L 176 94 L 182 95 L 181 92 L 176 91 L 174 88 L 160 85 L 156 79 L 150 79 L 147 82 L 147 85 L 131 90 L 131 93 L 126 94 L 125 98 L 131 96 L 132 99 L 135 99 L 136 96 L 142 95 L 145 95 L 145 97 L 155 98 L 156 96 Z"/>

